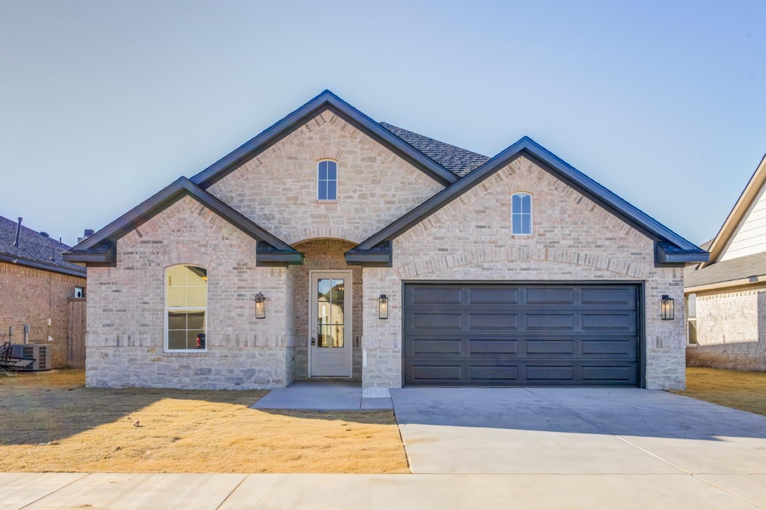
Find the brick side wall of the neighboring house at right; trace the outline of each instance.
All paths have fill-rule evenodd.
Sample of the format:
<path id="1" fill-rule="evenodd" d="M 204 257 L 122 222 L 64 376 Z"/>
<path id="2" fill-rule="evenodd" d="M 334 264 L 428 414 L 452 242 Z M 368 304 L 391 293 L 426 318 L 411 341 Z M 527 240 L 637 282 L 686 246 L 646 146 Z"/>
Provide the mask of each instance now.
<path id="1" fill-rule="evenodd" d="M 766 371 L 766 289 L 697 294 L 697 342 L 689 366 Z"/>

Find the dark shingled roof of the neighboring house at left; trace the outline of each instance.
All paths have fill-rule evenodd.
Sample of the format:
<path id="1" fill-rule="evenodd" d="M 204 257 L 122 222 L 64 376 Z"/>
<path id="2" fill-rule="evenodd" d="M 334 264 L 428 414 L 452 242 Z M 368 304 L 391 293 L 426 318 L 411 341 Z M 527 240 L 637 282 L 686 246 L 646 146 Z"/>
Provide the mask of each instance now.
<path id="1" fill-rule="evenodd" d="M 0 216 L 0 260 L 18 263 L 21 266 L 56 271 L 74 276 L 85 276 L 85 268 L 75 263 L 64 262 L 61 253 L 69 246 L 59 243 L 53 237 L 44 237 L 39 232 L 25 227 L 21 222 L 18 247 L 16 239 L 17 221 Z M 53 257 L 53 260 L 51 260 Z"/>

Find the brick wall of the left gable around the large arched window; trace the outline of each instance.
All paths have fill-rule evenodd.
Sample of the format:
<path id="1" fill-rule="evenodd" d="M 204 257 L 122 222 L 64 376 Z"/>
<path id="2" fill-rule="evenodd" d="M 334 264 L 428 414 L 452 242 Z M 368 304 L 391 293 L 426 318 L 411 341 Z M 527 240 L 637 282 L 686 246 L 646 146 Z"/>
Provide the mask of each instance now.
<path id="1" fill-rule="evenodd" d="M 165 353 L 165 267 L 208 269 L 206 353 Z M 89 386 L 257 388 L 292 381 L 286 269 L 255 266 L 255 240 L 182 198 L 117 244 L 116 267 L 89 268 Z M 266 296 L 255 319 L 254 296 Z"/>

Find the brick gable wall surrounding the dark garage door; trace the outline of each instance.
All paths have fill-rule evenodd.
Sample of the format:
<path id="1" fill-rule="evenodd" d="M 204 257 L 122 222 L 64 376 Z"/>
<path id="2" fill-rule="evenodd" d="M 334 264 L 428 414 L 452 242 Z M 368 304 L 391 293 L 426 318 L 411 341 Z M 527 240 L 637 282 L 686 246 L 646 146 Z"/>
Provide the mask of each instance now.
<path id="1" fill-rule="evenodd" d="M 533 235 L 511 234 L 511 195 L 528 191 Z M 683 269 L 655 268 L 653 242 L 527 159 L 518 159 L 394 240 L 394 266 L 364 269 L 365 387 L 401 385 L 401 280 L 645 281 L 647 386 L 682 388 Z M 379 320 L 387 294 L 390 317 Z"/>

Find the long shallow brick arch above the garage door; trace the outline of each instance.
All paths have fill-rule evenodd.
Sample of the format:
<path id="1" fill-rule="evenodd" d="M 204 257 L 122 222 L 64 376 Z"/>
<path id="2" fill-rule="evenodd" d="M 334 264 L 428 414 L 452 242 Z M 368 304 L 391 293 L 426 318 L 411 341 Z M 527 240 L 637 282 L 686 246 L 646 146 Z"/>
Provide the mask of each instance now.
<path id="1" fill-rule="evenodd" d="M 624 260 L 602 255 L 581 253 L 575 250 L 560 248 L 487 248 L 484 250 L 470 250 L 456 253 L 446 257 L 434 257 L 423 262 L 405 264 L 399 270 L 402 279 L 414 278 L 428 273 L 448 270 L 453 267 L 469 266 L 481 263 L 494 262 L 525 262 L 542 261 L 568 263 L 577 266 L 591 267 L 597 270 L 606 270 L 624 276 L 631 276 L 640 280 L 647 280 L 650 270 L 647 267 L 637 266 Z"/>

